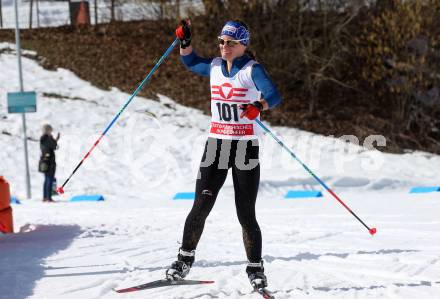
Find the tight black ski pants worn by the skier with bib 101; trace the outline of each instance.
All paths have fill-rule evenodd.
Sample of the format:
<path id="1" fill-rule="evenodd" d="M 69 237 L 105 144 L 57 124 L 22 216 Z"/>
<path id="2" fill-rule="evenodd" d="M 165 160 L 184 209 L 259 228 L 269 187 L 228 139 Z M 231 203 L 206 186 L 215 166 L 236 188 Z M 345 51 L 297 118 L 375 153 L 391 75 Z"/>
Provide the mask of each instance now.
<path id="1" fill-rule="evenodd" d="M 258 140 L 208 138 L 200 163 L 193 207 L 186 218 L 182 249 L 195 250 L 205 220 L 232 168 L 235 206 L 242 227 L 243 242 L 250 262 L 261 260 L 261 231 L 255 218 L 255 202 L 260 183 Z"/>

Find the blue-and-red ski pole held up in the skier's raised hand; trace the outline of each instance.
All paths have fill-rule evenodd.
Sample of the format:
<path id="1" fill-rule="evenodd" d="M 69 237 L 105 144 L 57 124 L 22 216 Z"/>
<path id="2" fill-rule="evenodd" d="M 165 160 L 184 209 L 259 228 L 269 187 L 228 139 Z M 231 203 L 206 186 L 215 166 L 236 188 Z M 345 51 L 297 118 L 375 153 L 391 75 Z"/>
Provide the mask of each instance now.
<path id="1" fill-rule="evenodd" d="M 63 194 L 64 193 L 64 186 L 69 182 L 70 178 L 75 174 L 75 172 L 78 170 L 78 168 L 81 167 L 83 162 L 89 157 L 89 155 L 92 153 L 93 149 L 99 144 L 101 139 L 107 134 L 107 132 L 110 130 L 110 128 L 113 126 L 113 124 L 116 122 L 116 120 L 119 118 L 119 116 L 124 112 L 125 108 L 130 104 L 130 102 L 134 99 L 134 97 L 141 91 L 142 87 L 150 80 L 153 73 L 157 70 L 157 68 L 161 65 L 161 63 L 164 61 L 164 59 L 170 54 L 170 52 L 173 50 L 174 46 L 178 43 L 178 39 L 176 38 L 174 42 L 168 47 L 168 49 L 165 51 L 165 53 L 162 55 L 162 57 L 159 59 L 159 61 L 156 63 L 156 65 L 151 69 L 151 71 L 148 73 L 148 75 L 145 77 L 145 79 L 139 84 L 139 86 L 136 88 L 134 93 L 130 96 L 130 98 L 125 102 L 124 106 L 122 106 L 121 110 L 115 115 L 115 117 L 112 119 L 112 121 L 108 124 L 108 126 L 105 128 L 105 130 L 102 132 L 101 136 L 95 141 L 93 146 L 90 148 L 90 150 L 87 152 L 87 154 L 82 158 L 82 160 L 78 163 L 78 165 L 75 167 L 73 172 L 70 174 L 70 176 L 67 178 L 67 180 L 63 183 L 63 185 L 59 188 L 57 188 L 57 193 Z"/>

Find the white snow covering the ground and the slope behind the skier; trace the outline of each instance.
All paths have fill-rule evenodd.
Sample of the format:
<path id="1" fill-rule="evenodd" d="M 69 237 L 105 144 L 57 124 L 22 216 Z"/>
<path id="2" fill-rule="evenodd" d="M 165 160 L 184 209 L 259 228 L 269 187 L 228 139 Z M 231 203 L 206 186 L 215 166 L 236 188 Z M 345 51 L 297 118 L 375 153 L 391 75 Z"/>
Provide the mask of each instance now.
<path id="1" fill-rule="evenodd" d="M 0 51 L 11 47 L 0 44 Z M 1 299 L 258 298 L 244 271 L 230 177 L 189 276 L 215 284 L 114 293 L 115 287 L 162 278 L 174 260 L 192 202 L 172 197 L 193 191 L 209 117 L 164 96 L 136 98 L 57 198 L 60 202 L 44 204 L 37 172 L 41 125 L 51 123 L 61 132 L 57 178 L 62 183 L 129 95 L 98 89 L 65 69 L 44 70 L 29 58 L 23 58 L 23 67 L 25 90 L 38 94 L 37 113 L 27 114 L 30 200 L 24 199 L 21 117 L 6 109 L 6 92 L 18 89 L 16 56 L 12 50 L 0 54 L 0 175 L 23 201 L 13 206 L 15 231 L 21 233 L 0 237 Z M 167 67 L 172 67 L 169 61 L 161 66 Z M 327 194 L 283 199 L 287 190 L 322 188 L 263 137 L 257 216 L 276 298 L 439 297 L 440 193 L 416 196 L 408 190 L 440 184 L 440 157 L 384 154 L 292 128 L 272 129 L 378 229 L 370 236 Z M 95 193 L 106 201 L 68 202 L 73 195 Z"/>

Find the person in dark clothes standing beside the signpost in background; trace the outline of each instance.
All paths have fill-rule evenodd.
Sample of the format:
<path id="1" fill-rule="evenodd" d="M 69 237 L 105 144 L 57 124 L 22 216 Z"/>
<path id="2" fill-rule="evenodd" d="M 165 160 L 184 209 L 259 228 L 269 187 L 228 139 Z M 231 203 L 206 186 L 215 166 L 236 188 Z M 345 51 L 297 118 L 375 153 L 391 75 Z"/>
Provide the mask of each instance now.
<path id="1" fill-rule="evenodd" d="M 43 201 L 53 202 L 52 200 L 52 186 L 55 181 L 55 150 L 58 149 L 58 140 L 60 139 L 60 133 L 57 137 L 52 136 L 52 126 L 49 124 L 43 125 L 43 135 L 40 138 L 41 157 L 39 163 L 39 171 L 44 173 L 44 185 L 43 185 Z"/>

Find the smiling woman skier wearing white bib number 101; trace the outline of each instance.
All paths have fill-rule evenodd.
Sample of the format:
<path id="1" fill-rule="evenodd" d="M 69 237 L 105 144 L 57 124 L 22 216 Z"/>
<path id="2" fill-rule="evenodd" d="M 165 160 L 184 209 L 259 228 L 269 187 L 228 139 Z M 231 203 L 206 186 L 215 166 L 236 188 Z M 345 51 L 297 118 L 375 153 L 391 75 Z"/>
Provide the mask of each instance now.
<path id="1" fill-rule="evenodd" d="M 261 231 L 255 218 L 260 182 L 260 132 L 253 120 L 261 111 L 279 104 L 280 95 L 264 68 L 247 50 L 250 33 L 243 22 L 228 21 L 221 29 L 218 36 L 221 57 L 208 59 L 195 53 L 189 21 L 181 22 L 176 36 L 184 65 L 198 75 L 210 77 L 212 120 L 182 246 L 166 277 L 179 280 L 189 273 L 205 220 L 232 168 L 235 205 L 248 259 L 246 272 L 254 288 L 264 288 L 267 279 L 261 259 Z"/>

